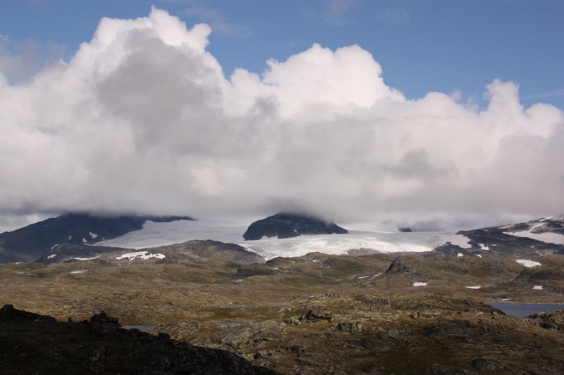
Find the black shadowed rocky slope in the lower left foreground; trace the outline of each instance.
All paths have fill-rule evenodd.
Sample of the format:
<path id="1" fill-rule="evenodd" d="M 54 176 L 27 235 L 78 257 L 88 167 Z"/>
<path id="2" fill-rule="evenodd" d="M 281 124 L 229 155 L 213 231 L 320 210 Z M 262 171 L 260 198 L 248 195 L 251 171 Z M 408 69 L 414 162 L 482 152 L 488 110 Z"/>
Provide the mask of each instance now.
<path id="1" fill-rule="evenodd" d="M 90 322 L 0 309 L 0 374 L 279 374 L 226 350 L 200 348 L 119 328 L 96 314 Z"/>

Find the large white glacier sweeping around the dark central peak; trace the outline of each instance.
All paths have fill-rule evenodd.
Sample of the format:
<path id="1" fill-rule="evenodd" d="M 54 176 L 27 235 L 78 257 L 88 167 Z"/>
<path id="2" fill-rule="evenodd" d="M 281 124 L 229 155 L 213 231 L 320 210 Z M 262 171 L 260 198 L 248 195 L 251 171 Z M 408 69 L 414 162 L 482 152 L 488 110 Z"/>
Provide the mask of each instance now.
<path id="1" fill-rule="evenodd" d="M 230 225 L 221 222 L 178 220 L 168 223 L 156 223 L 147 221 L 139 231 L 132 231 L 116 239 L 100 241 L 95 243 L 95 245 L 140 250 L 191 240 L 209 239 L 236 243 L 247 250 L 262 255 L 266 260 L 276 257 L 299 257 L 316 251 L 329 255 L 345 255 L 348 250 L 359 248 L 369 248 L 379 253 L 418 253 L 434 250 L 434 248 L 446 242 L 461 248 L 472 247 L 468 243 L 470 239 L 466 236 L 431 231 L 401 233 L 350 230 L 349 234 L 307 235 L 291 239 L 272 237 L 257 241 L 244 241 L 243 233 L 246 230 L 246 226 Z M 553 235 L 560 236 L 559 234 Z M 564 240 L 564 236 L 560 237 Z M 489 247 L 484 246 L 484 244 L 480 244 L 480 248 L 482 250 L 489 250 Z"/>

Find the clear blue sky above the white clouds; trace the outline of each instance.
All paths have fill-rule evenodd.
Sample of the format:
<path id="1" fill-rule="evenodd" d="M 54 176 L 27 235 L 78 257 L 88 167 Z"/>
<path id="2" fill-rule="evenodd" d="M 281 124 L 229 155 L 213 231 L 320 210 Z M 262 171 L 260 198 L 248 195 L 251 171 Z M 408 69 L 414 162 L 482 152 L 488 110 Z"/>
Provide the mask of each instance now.
<path id="1" fill-rule="evenodd" d="M 560 0 L 6 0 L 0 34 L 11 38 L 11 53 L 31 39 L 43 54 L 64 46 L 69 58 L 102 17 L 142 17 L 152 5 L 188 27 L 211 25 L 208 50 L 226 75 L 240 67 L 260 73 L 269 58 L 285 61 L 313 43 L 333 50 L 358 44 L 407 98 L 460 91 L 462 101 L 483 106 L 486 84 L 500 78 L 520 85 L 524 106 L 564 108 Z"/>

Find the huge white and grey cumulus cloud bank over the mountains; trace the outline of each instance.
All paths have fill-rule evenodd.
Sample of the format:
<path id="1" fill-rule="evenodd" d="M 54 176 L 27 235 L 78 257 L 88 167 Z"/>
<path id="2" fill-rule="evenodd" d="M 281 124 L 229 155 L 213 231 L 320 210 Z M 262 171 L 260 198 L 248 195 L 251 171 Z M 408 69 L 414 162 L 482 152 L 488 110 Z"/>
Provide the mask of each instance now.
<path id="1" fill-rule="evenodd" d="M 360 46 L 317 44 L 226 79 L 210 32 L 153 8 L 102 19 L 31 80 L 2 72 L 0 211 L 419 227 L 562 212 L 564 113 L 522 107 L 517 84 L 489 84 L 485 110 L 407 100 Z"/>

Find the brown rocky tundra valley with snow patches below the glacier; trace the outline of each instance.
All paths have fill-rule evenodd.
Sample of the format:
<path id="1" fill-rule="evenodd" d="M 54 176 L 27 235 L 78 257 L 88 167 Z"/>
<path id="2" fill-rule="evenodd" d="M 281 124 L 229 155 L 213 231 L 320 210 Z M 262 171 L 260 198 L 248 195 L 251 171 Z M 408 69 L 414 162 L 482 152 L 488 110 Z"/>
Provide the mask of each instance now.
<path id="1" fill-rule="evenodd" d="M 564 303 L 560 246 L 467 236 L 465 248 L 268 260 L 219 241 L 71 243 L 0 265 L 0 303 L 59 322 L 104 311 L 282 374 L 564 374 L 562 310 L 520 318 L 487 305 Z"/>

